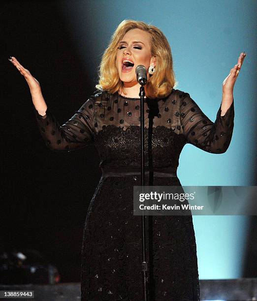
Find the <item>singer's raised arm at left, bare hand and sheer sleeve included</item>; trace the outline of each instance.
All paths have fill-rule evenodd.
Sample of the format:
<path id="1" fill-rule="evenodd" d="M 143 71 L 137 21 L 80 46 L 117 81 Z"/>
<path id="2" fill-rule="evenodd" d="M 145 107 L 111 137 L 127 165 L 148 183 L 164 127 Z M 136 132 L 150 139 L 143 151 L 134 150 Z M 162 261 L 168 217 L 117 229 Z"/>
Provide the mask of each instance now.
<path id="1" fill-rule="evenodd" d="M 74 151 L 93 142 L 93 119 L 95 115 L 93 98 L 89 98 L 71 119 L 60 126 L 46 105 L 39 82 L 14 57 L 9 60 L 20 71 L 29 85 L 38 128 L 50 150 Z"/>

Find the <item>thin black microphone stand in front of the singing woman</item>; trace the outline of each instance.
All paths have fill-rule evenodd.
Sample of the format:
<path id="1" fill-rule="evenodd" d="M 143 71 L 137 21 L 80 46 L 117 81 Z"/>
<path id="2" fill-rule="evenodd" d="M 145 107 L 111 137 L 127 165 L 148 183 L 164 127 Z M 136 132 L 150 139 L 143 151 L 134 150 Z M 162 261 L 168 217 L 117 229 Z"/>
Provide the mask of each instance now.
<path id="1" fill-rule="evenodd" d="M 140 127 L 141 127 L 141 186 L 145 186 L 145 115 L 144 115 L 144 96 L 145 96 L 145 89 L 144 85 L 146 82 L 139 81 L 140 87 Z M 144 188 L 143 188 L 144 189 Z M 146 261 L 146 230 L 145 230 L 145 221 L 147 216 L 144 216 L 144 211 L 142 211 L 142 276 L 143 276 L 143 294 L 144 294 L 144 301 L 149 300 L 149 293 L 148 293 L 148 282 L 147 282 L 147 272 L 148 269 L 148 262 Z"/>

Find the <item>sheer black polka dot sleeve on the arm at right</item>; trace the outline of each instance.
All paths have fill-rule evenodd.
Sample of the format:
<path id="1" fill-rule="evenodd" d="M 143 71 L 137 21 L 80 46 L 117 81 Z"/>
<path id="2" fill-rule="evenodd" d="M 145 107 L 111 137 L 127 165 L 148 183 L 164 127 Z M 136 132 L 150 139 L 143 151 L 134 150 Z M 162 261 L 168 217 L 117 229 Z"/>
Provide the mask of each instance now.
<path id="1" fill-rule="evenodd" d="M 184 92 L 180 103 L 180 119 L 187 143 L 197 148 L 224 153 L 231 141 L 234 127 L 234 99 L 224 116 L 221 116 L 221 106 L 215 122 L 212 122 L 190 97 Z"/>

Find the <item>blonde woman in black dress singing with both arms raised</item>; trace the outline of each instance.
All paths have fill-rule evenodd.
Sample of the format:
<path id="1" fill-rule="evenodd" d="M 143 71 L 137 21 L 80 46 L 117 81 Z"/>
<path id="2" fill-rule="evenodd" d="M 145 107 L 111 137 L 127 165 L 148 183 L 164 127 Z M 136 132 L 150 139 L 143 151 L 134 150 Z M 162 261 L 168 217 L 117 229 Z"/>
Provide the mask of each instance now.
<path id="1" fill-rule="evenodd" d="M 224 153 L 230 144 L 233 88 L 245 56 L 240 54 L 225 78 L 222 102 L 212 122 L 189 93 L 174 89 L 171 49 L 161 30 L 125 20 L 102 56 L 97 93 L 61 126 L 47 107 L 38 81 L 11 57 L 30 87 L 46 146 L 52 151 L 75 151 L 94 143 L 101 158 L 102 177 L 91 200 L 83 234 L 83 301 L 144 299 L 141 216 L 133 215 L 133 186 L 140 185 L 141 164 L 136 66 L 144 65 L 148 77 L 145 185 L 181 186 L 176 171 L 187 143 L 217 154 Z M 192 215 L 150 216 L 146 245 L 150 300 L 199 300 Z"/>

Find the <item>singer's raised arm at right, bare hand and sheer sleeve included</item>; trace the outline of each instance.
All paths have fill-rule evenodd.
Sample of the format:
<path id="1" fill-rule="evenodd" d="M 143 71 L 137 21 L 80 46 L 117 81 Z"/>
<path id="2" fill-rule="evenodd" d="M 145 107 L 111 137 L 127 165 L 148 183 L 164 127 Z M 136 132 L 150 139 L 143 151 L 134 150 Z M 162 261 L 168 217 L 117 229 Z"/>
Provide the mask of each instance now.
<path id="1" fill-rule="evenodd" d="M 227 150 L 234 127 L 233 89 L 245 56 L 245 53 L 240 54 L 237 64 L 223 82 L 222 103 L 215 122 L 205 116 L 189 93 L 181 95 L 180 120 L 188 143 L 213 153 L 223 153 Z"/>

